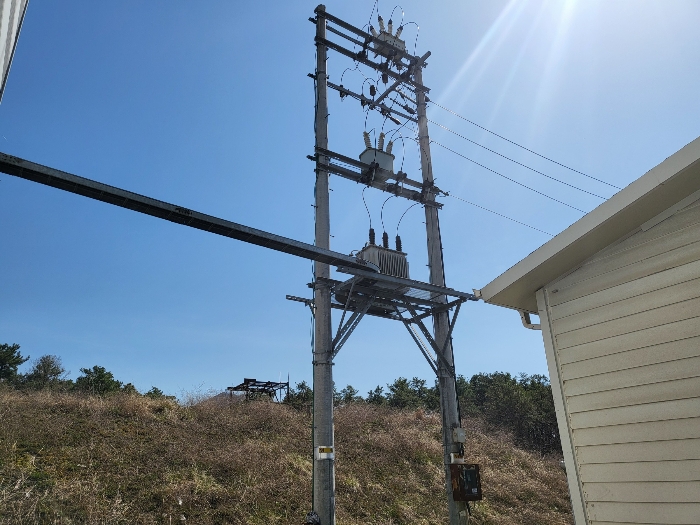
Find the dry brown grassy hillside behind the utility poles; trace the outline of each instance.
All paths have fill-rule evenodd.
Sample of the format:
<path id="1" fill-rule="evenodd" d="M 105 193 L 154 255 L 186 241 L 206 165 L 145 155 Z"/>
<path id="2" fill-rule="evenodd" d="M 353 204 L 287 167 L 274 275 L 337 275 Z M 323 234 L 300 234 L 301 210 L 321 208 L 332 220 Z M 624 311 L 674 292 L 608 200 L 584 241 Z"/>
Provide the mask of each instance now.
<path id="1" fill-rule="evenodd" d="M 301 524 L 310 425 L 262 401 L 1 389 L 0 524 Z M 339 408 L 338 524 L 446 523 L 439 425 L 422 409 Z M 471 523 L 572 523 L 557 458 L 465 426 L 485 494 Z"/>

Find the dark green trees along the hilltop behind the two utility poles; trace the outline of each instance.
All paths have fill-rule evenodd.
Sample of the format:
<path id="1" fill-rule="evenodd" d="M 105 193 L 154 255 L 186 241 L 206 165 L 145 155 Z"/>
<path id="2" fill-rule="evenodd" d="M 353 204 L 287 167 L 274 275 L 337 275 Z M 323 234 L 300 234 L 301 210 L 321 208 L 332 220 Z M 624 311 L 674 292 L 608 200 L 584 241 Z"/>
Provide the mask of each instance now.
<path id="1" fill-rule="evenodd" d="M 457 376 L 457 397 L 462 417 L 481 419 L 491 430 L 510 433 L 515 442 L 541 454 L 561 453 L 559 427 L 554 411 L 552 387 L 543 375 L 505 372 L 475 374 L 470 379 Z M 301 408 L 313 402 L 313 391 L 305 382 L 297 383 L 284 400 Z M 425 379 L 399 377 L 384 387 L 377 386 L 362 397 L 351 385 L 334 390 L 336 406 L 366 403 L 395 409 L 440 410 L 437 381 L 428 386 Z"/>

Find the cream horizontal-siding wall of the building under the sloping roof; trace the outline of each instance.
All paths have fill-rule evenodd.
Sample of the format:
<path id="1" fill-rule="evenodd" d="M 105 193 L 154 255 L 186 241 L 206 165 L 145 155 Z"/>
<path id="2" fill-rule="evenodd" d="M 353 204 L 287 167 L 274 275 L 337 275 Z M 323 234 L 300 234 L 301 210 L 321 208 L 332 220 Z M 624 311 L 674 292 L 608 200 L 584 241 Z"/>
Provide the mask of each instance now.
<path id="1" fill-rule="evenodd" d="M 655 222 L 538 292 L 577 525 L 700 524 L 700 201 Z"/>

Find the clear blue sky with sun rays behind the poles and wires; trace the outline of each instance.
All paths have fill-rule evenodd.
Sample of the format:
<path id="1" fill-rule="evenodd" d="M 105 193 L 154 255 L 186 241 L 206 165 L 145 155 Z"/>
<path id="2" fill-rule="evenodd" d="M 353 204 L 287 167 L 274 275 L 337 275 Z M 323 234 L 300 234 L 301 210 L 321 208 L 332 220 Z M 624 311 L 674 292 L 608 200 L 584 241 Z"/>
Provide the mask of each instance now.
<path id="1" fill-rule="evenodd" d="M 373 2 L 328 2 L 363 26 Z M 0 151 L 302 241 L 313 240 L 312 2 L 30 3 L 5 96 Z M 393 3 L 380 2 L 388 19 Z M 394 11 L 395 21 L 402 9 Z M 625 186 L 700 134 L 694 0 L 404 1 L 431 98 L 527 147 Z M 375 22 L 376 25 L 376 22 Z M 416 25 L 404 36 L 413 47 Z M 339 81 L 349 61 L 331 54 Z M 362 77 L 348 72 L 344 85 Z M 612 188 L 542 161 L 439 108 L 431 119 L 606 197 Z M 371 114 L 367 128 L 381 127 Z M 363 149 L 359 103 L 330 93 L 330 147 Z M 431 138 L 577 208 L 601 201 L 431 125 Z M 401 156 L 397 145 L 395 152 Z M 415 145 L 404 171 L 419 178 Z M 556 234 L 582 216 L 433 145 L 437 184 Z M 331 181 L 332 247 L 362 247 L 361 188 Z M 614 190 L 613 190 L 614 191 Z M 379 232 L 385 195 L 367 191 Z M 441 227 L 448 285 L 480 288 L 549 237 L 454 199 Z M 386 204 L 393 236 L 404 201 Z M 427 280 L 420 208 L 401 224 Z M 311 263 L 0 175 L 0 342 L 57 354 L 76 377 L 105 366 L 144 391 L 221 389 L 244 377 L 311 377 Z M 539 332 L 470 303 L 458 373 L 546 373 Z M 367 319 L 336 359 L 366 393 L 431 372 L 405 329 Z"/>

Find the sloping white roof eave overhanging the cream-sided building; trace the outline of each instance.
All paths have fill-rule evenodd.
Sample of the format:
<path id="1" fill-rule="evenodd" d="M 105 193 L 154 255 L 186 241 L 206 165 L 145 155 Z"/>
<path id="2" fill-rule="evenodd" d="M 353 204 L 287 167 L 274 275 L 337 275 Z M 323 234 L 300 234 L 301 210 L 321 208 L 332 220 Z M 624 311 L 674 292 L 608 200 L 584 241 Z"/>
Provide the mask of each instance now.
<path id="1" fill-rule="evenodd" d="M 484 286 L 484 301 L 537 312 L 537 290 L 699 189 L 700 137 Z"/>

